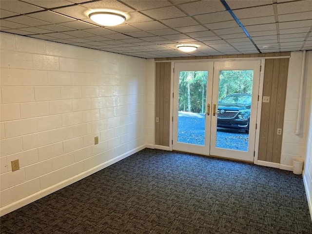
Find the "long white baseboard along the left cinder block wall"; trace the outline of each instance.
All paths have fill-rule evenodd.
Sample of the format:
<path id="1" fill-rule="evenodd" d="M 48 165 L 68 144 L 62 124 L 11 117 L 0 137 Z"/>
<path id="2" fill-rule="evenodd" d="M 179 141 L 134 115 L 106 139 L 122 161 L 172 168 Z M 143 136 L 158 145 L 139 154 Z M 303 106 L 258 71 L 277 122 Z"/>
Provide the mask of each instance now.
<path id="1" fill-rule="evenodd" d="M 102 169 L 104 169 L 104 168 L 128 157 L 128 156 L 131 156 L 131 155 L 139 152 L 140 150 L 143 150 L 144 148 L 146 148 L 145 145 L 139 146 L 136 149 L 128 151 L 128 152 L 126 152 L 120 156 L 114 157 L 114 158 L 112 158 L 106 162 L 99 164 L 98 166 L 95 166 L 94 168 L 91 168 L 91 169 L 89 169 L 85 172 L 82 172 L 76 176 L 73 176 L 71 178 L 63 180 L 63 181 L 61 181 L 61 182 L 59 182 L 59 183 L 57 183 L 57 184 L 55 184 L 49 188 L 40 190 L 39 192 L 37 192 L 35 194 L 29 195 L 29 196 L 24 197 L 24 198 L 22 198 L 16 202 L 9 204 L 7 206 L 1 207 L 0 208 L 0 216 L 6 215 L 6 214 L 8 214 L 12 211 L 15 211 L 15 210 L 17 210 L 17 209 L 19 209 L 25 205 L 28 205 L 29 203 L 34 202 L 34 201 L 36 201 L 36 200 L 38 200 L 38 199 L 40 199 L 46 195 L 52 194 L 52 193 L 54 193 L 54 192 L 56 192 L 62 188 L 65 188 L 66 186 L 73 184 L 73 183 L 79 181 L 80 179 L 83 179 L 87 176 L 90 176 L 90 175 L 92 175 L 92 174 L 94 174 L 94 173 L 96 173 L 96 172 L 98 172 L 98 171 L 100 171 L 100 170 L 102 170 Z"/>

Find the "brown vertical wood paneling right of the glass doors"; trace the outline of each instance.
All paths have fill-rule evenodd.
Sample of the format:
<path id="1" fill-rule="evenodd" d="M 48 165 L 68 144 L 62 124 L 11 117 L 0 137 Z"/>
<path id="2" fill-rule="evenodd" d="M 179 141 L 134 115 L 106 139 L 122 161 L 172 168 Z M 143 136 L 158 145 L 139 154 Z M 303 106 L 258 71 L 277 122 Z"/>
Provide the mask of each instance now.
<path id="1" fill-rule="evenodd" d="M 263 96 L 270 102 L 262 103 L 258 160 L 280 163 L 287 75 L 289 59 L 266 59 Z"/>

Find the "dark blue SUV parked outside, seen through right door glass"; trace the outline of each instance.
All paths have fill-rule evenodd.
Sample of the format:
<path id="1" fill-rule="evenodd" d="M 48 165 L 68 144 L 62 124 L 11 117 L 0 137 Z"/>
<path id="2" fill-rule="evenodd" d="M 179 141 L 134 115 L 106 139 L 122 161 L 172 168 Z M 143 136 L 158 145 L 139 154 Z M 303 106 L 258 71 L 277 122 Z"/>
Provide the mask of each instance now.
<path id="1" fill-rule="evenodd" d="M 251 94 L 230 94 L 218 102 L 217 127 L 249 133 Z"/>

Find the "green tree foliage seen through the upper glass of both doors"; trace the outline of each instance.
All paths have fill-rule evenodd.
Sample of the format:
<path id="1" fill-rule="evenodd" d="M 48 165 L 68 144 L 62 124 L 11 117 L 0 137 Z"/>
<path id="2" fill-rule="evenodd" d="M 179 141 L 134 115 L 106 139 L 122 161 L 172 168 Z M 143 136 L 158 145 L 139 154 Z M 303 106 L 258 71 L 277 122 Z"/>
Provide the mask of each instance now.
<path id="1" fill-rule="evenodd" d="M 220 71 L 219 97 L 230 94 L 251 94 L 253 70 Z M 179 72 L 178 111 L 193 113 L 206 112 L 207 71 Z"/>

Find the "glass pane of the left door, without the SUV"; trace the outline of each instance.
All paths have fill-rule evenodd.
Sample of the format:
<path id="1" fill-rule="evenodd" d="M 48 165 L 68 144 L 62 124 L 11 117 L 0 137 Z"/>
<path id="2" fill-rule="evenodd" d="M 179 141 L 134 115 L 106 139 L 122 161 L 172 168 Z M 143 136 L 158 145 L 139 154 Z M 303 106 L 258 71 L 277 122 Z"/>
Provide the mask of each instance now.
<path id="1" fill-rule="evenodd" d="M 180 71 L 177 141 L 205 145 L 208 71 Z"/>

